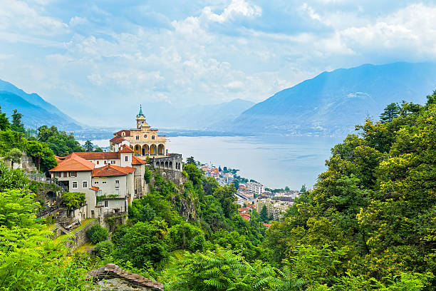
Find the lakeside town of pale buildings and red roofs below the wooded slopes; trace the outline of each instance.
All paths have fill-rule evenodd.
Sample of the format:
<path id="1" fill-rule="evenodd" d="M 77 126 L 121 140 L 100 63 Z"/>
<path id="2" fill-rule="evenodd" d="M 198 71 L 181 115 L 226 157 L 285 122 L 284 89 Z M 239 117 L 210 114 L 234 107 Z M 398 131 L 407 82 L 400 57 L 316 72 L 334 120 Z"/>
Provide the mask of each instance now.
<path id="1" fill-rule="evenodd" d="M 260 214 L 264 208 L 266 208 L 269 220 L 279 220 L 301 193 L 301 190 L 290 190 L 289 187 L 266 188 L 265 185 L 255 180 L 240 177 L 236 169 L 221 168 L 221 166 L 217 168 L 214 165 L 204 164 L 199 164 L 198 167 L 207 177 L 215 178 L 219 185 L 234 184 L 237 189 L 237 204 L 241 206 L 238 208 L 238 213 L 244 220 L 251 219 L 252 211 Z M 271 224 L 264 223 L 264 226 L 269 228 Z"/>

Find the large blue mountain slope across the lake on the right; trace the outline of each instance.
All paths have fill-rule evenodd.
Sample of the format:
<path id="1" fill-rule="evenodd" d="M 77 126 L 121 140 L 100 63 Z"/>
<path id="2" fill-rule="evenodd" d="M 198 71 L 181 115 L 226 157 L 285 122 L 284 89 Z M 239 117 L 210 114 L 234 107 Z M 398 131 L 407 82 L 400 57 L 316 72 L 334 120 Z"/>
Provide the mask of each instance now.
<path id="1" fill-rule="evenodd" d="M 435 63 L 390 63 L 323 72 L 244 111 L 234 132 L 342 135 L 393 102 L 423 103 L 436 88 Z"/>

